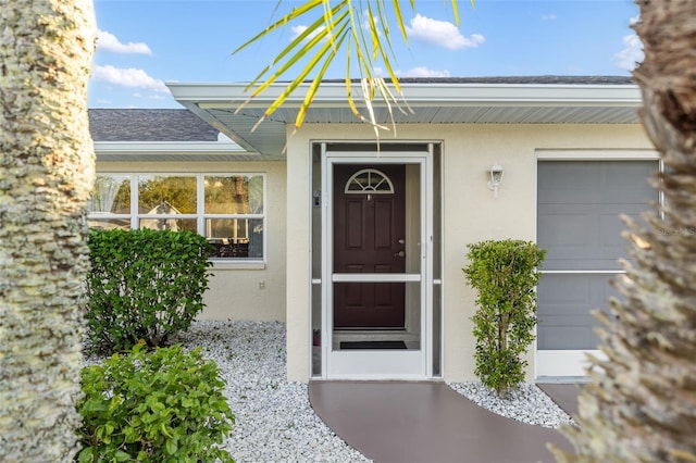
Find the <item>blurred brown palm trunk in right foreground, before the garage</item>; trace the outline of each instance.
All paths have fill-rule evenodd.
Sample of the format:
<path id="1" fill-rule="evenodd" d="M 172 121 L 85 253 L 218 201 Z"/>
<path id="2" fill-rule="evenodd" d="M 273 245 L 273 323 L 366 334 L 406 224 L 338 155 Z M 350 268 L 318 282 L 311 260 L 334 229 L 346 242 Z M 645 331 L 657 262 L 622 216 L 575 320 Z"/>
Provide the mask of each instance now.
<path id="1" fill-rule="evenodd" d="M 617 281 L 602 350 L 580 398 L 577 455 L 559 461 L 696 462 L 696 2 L 638 0 L 641 118 L 661 153 L 664 205 L 630 224 L 636 267 Z"/>

